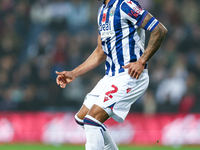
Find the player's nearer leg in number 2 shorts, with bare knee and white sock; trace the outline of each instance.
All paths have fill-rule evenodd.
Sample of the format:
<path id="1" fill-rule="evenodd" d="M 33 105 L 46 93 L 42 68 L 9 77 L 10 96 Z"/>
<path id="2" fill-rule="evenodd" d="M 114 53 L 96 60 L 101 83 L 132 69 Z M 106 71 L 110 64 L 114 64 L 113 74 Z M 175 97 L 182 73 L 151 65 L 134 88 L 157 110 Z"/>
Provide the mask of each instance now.
<path id="1" fill-rule="evenodd" d="M 91 107 L 84 118 L 86 150 L 103 150 L 105 142 L 103 122 L 109 117 L 123 122 L 131 104 L 141 96 L 147 86 L 147 73 L 143 73 L 139 80 L 132 79 L 128 74 L 120 74 L 110 78 L 109 84 L 104 86 L 104 90 L 98 96 L 95 105 Z M 122 106 L 126 107 L 122 109 Z"/>

